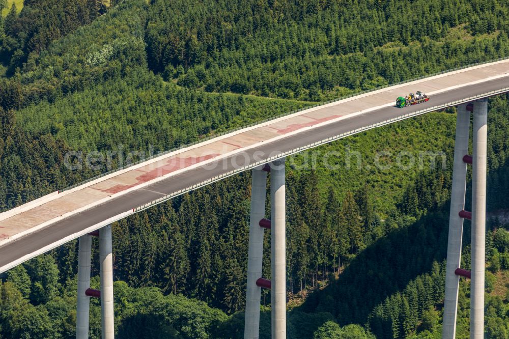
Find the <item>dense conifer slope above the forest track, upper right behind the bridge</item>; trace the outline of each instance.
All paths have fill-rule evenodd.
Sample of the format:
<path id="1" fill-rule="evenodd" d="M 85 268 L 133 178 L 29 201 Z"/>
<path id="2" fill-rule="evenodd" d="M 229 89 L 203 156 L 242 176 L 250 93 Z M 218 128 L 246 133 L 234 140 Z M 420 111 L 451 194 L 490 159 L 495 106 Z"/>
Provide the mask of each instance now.
<path id="1" fill-rule="evenodd" d="M 508 20 L 490 0 L 156 0 L 146 41 L 183 86 L 317 101 L 505 56 Z"/>

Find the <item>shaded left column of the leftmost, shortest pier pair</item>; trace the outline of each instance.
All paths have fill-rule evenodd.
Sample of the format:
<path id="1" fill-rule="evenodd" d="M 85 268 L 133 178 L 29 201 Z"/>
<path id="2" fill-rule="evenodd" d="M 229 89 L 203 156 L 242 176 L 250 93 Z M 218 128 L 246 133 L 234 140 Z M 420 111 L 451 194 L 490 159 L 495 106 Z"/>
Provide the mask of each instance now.
<path id="1" fill-rule="evenodd" d="M 76 303 L 76 339 L 89 338 L 90 297 L 85 291 L 90 287 L 90 257 L 92 237 L 88 234 L 78 239 L 78 299 Z"/>

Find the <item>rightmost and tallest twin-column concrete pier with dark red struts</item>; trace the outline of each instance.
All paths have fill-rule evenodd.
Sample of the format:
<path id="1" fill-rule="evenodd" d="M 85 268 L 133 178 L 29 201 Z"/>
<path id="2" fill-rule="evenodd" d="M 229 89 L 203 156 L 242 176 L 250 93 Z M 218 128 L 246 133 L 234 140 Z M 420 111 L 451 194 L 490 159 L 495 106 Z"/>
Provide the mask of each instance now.
<path id="1" fill-rule="evenodd" d="M 473 155 L 467 154 L 470 111 L 473 111 Z M 486 172 L 488 139 L 488 101 L 480 99 L 458 107 L 451 191 L 445 300 L 442 339 L 456 337 L 459 278 L 470 282 L 470 338 L 484 338 L 484 284 L 486 247 Z M 472 211 L 465 210 L 467 164 L 472 165 Z M 472 225 L 471 271 L 460 267 L 463 219 Z"/>

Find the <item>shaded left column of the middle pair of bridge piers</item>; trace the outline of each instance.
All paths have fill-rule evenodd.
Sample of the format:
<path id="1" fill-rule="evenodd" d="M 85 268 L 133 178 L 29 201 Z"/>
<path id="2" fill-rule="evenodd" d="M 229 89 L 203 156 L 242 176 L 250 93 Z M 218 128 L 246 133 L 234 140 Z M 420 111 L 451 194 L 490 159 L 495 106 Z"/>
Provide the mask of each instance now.
<path id="1" fill-rule="evenodd" d="M 249 219 L 249 251 L 247 255 L 247 294 L 244 338 L 258 339 L 260 330 L 261 288 L 256 280 L 262 277 L 263 233 L 260 220 L 265 218 L 267 172 L 261 167 L 252 171 L 251 215 Z"/>

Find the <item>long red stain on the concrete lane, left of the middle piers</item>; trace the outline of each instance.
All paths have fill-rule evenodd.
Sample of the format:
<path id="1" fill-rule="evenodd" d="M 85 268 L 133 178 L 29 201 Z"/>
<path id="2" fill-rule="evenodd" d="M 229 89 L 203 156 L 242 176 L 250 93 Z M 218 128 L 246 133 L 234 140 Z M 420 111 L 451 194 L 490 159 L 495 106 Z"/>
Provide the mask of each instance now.
<path id="1" fill-rule="evenodd" d="M 125 191 L 126 189 L 129 189 L 131 187 L 137 186 L 139 184 L 148 182 L 150 180 L 153 180 L 155 178 L 161 177 L 163 175 L 166 175 L 168 173 L 175 172 L 177 170 L 180 170 L 181 168 L 189 167 L 190 165 L 194 165 L 197 163 L 200 163 L 205 160 L 212 159 L 215 156 L 218 156 L 218 153 L 209 154 L 203 157 L 187 157 L 187 158 L 180 158 L 175 157 L 166 160 L 166 163 L 160 167 L 154 168 L 154 170 L 149 171 L 145 174 L 142 174 L 138 177 L 136 177 L 136 183 L 131 185 L 115 185 L 110 188 L 106 189 L 99 189 L 100 191 L 115 194 L 118 192 Z"/>

